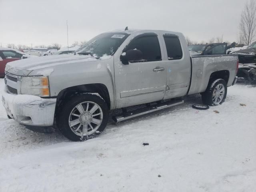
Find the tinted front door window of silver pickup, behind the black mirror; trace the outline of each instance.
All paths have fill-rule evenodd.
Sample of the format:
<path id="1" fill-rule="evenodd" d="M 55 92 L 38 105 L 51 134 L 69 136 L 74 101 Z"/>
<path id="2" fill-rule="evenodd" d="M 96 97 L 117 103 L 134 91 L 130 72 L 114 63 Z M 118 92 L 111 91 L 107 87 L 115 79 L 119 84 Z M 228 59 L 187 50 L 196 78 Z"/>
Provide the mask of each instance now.
<path id="1" fill-rule="evenodd" d="M 134 49 L 142 52 L 144 62 L 162 60 L 160 44 L 156 34 L 143 34 L 135 37 L 123 52 Z"/>

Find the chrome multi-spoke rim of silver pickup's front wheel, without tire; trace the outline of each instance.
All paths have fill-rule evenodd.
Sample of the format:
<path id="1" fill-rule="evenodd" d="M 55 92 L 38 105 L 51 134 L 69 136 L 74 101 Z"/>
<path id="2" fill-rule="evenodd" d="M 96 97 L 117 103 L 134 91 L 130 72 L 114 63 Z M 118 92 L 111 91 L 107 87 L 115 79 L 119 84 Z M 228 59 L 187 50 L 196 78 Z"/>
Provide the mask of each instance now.
<path id="1" fill-rule="evenodd" d="M 98 130 L 102 123 L 103 112 L 94 102 L 86 101 L 73 108 L 69 115 L 69 126 L 74 134 L 88 136 Z"/>

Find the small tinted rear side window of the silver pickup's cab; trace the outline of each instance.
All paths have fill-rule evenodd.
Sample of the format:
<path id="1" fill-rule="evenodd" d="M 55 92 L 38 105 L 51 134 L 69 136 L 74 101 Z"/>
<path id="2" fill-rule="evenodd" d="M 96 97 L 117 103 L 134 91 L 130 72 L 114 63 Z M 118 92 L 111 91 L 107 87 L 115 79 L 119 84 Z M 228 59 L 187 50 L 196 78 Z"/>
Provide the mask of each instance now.
<path id="1" fill-rule="evenodd" d="M 182 58 L 182 48 L 180 40 L 176 35 L 164 35 L 164 42 L 168 54 L 168 60 L 177 60 Z"/>

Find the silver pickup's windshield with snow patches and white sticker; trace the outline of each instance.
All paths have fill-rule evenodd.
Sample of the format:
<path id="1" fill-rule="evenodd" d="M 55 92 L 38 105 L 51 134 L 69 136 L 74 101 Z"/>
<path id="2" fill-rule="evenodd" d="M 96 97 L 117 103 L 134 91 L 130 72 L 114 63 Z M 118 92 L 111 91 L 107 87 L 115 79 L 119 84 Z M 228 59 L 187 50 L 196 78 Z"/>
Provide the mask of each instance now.
<path id="1" fill-rule="evenodd" d="M 94 57 L 113 55 L 128 36 L 126 33 L 103 33 L 88 41 L 76 53 Z"/>

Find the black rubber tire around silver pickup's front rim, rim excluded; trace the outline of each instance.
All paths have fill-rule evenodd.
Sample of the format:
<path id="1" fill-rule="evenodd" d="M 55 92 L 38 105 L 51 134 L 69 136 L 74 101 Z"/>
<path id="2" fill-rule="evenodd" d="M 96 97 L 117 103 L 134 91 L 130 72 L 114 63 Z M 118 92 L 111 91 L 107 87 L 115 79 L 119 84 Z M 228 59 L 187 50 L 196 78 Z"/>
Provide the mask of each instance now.
<path id="1" fill-rule="evenodd" d="M 69 126 L 70 113 L 72 112 L 72 110 L 74 110 L 74 108 L 78 104 L 80 104 L 82 102 L 94 102 L 95 104 L 100 106 L 102 113 L 103 113 L 102 122 L 101 122 L 99 128 L 97 129 L 96 132 L 94 132 L 88 136 L 78 136 L 71 130 L 71 128 Z M 106 102 L 100 96 L 98 96 L 97 94 L 90 94 L 90 93 L 78 94 L 78 95 L 72 96 L 70 98 L 70 100 L 67 100 L 65 102 L 65 104 L 62 105 L 60 110 L 58 110 L 57 126 L 58 126 L 60 132 L 62 132 L 62 134 L 69 140 L 84 141 L 84 140 L 88 140 L 90 138 L 94 138 L 95 136 L 99 135 L 104 130 L 104 128 L 106 127 L 106 125 L 108 123 L 108 115 L 109 115 L 108 106 L 107 106 Z"/>

